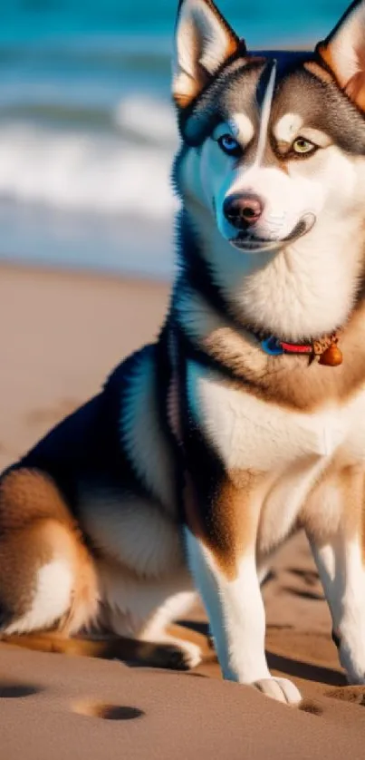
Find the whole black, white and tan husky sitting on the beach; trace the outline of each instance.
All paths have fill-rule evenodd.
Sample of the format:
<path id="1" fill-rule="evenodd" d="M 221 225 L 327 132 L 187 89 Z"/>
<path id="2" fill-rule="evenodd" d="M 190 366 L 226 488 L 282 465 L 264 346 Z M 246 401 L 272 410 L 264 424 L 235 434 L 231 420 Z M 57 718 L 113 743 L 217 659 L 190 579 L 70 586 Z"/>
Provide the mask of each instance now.
<path id="1" fill-rule="evenodd" d="M 198 591 L 223 676 L 296 704 L 260 580 L 299 528 L 365 683 L 365 0 L 308 53 L 250 53 L 181 0 L 172 89 L 168 316 L 3 473 L 1 635 L 74 651 L 97 630 L 89 653 L 194 667 L 168 625 Z"/>

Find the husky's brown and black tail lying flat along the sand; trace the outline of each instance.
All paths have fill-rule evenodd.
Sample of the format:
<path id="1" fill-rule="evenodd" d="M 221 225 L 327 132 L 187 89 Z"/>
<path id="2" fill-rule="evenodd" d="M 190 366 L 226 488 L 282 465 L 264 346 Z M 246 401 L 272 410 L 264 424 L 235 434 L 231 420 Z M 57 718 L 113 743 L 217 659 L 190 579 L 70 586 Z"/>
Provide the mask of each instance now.
<path id="1" fill-rule="evenodd" d="M 133 638 L 66 638 L 57 633 L 30 633 L 23 636 L 3 636 L 0 641 L 38 652 L 120 659 L 144 667 L 186 669 L 183 667 L 182 652 L 178 647 Z"/>

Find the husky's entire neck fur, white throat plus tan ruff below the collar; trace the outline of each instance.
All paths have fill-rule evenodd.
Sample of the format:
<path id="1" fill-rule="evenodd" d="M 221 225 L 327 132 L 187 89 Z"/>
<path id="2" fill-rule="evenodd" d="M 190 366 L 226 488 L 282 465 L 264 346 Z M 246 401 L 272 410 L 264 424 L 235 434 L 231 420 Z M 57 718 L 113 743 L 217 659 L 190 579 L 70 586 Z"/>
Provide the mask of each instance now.
<path id="1" fill-rule="evenodd" d="M 317 236 L 311 234 L 303 245 L 276 257 L 245 256 L 225 243 L 206 209 L 188 202 L 180 219 L 181 272 L 169 321 L 187 339 L 186 359 L 191 346 L 190 356 L 213 362 L 233 382 L 275 403 L 308 411 L 319 404 L 343 402 L 365 375 L 361 251 L 353 248 L 357 239 L 362 245 L 363 230 L 355 224 L 351 239 L 339 233 L 336 237 L 334 225 L 331 240 L 320 248 L 323 268 L 318 264 L 319 229 Z M 310 257 L 311 251 L 309 266 L 301 257 Z M 299 290 L 297 278 L 303 279 Z M 344 325 L 343 365 L 309 366 L 305 356 L 266 356 L 252 334 L 253 323 L 257 329 L 276 331 L 277 336 L 283 331 L 293 340 Z"/>

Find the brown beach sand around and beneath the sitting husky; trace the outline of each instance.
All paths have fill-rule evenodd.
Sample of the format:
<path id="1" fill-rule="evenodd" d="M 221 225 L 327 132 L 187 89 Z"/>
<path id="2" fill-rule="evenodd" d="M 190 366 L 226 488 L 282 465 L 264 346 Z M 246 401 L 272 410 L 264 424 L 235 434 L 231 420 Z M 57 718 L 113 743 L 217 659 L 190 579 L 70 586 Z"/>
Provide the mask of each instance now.
<path id="1" fill-rule="evenodd" d="M 156 283 L 1 268 L 1 466 L 153 338 L 167 304 L 168 287 Z M 190 674 L 0 645 L 0 757 L 363 757 L 365 687 L 344 686 L 303 535 L 275 560 L 264 601 L 270 667 L 302 689 L 300 709 L 224 683 L 197 608 L 184 631 L 207 661 Z"/>

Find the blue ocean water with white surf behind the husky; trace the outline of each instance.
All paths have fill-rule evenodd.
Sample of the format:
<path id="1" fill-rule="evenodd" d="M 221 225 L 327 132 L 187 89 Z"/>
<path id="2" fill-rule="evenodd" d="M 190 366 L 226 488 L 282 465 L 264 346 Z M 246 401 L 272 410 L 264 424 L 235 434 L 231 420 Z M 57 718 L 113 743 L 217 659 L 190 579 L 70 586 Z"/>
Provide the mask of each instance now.
<path id="1" fill-rule="evenodd" d="M 177 0 L 5 0 L 0 258 L 168 277 Z M 312 45 L 341 0 L 220 0 L 249 47 Z"/>

